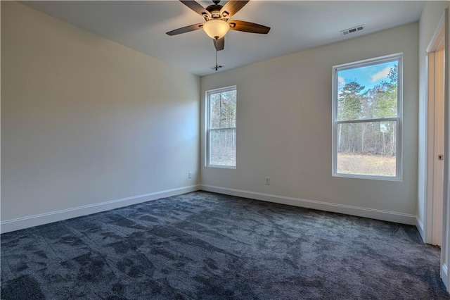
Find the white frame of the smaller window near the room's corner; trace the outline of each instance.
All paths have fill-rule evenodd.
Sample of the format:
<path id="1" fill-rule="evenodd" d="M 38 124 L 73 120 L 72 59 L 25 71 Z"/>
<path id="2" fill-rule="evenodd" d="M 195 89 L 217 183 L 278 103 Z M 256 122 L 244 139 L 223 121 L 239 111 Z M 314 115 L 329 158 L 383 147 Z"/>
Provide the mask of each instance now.
<path id="1" fill-rule="evenodd" d="M 210 128 L 210 120 L 211 120 L 211 111 L 210 111 L 210 95 L 218 94 L 222 92 L 236 91 L 236 126 L 235 127 L 220 127 L 220 128 Z M 237 116 L 238 116 L 238 88 L 236 85 L 232 85 L 230 87 L 221 87 L 219 89 L 210 89 L 205 92 L 205 167 L 207 168 L 224 168 L 224 169 L 236 169 L 238 165 L 238 125 L 237 125 Z M 234 130 L 236 132 L 236 149 L 235 149 L 235 157 L 236 163 L 235 165 L 213 165 L 211 164 L 211 132 L 214 131 L 223 131 L 223 130 Z"/>

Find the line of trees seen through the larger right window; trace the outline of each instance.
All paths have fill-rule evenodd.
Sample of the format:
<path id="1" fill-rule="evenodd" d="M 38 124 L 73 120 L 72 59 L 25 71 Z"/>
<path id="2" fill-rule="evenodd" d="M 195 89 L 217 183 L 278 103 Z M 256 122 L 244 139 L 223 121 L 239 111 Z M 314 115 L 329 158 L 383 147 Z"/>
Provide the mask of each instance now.
<path id="1" fill-rule="evenodd" d="M 338 120 L 378 119 L 397 116 L 397 65 L 386 80 L 364 91 L 356 80 L 346 83 L 338 94 Z M 342 123 L 338 127 L 338 152 L 396 154 L 395 121 Z"/>

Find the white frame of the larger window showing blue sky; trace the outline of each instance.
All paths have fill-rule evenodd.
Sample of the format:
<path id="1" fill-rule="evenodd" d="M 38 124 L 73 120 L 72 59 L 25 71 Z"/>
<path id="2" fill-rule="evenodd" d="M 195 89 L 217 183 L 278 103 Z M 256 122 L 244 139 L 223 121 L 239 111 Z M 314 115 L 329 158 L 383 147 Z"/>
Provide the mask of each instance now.
<path id="1" fill-rule="evenodd" d="M 352 68 L 366 67 L 368 65 L 376 65 L 379 63 L 387 63 L 391 61 L 397 61 L 397 116 L 390 118 L 366 118 L 355 120 L 338 120 L 338 72 L 340 70 L 348 70 Z M 332 176 L 333 177 L 348 177 L 359 179 L 371 179 L 371 180 L 387 180 L 387 181 L 402 181 L 403 180 L 403 168 L 402 168 L 402 123 L 403 123 L 403 53 L 390 54 L 387 56 L 378 56 L 375 58 L 365 59 L 363 61 L 356 61 L 353 63 L 345 63 L 342 65 L 333 66 L 333 112 L 332 112 Z M 396 122 L 396 176 L 381 176 L 381 175 L 361 175 L 352 173 L 338 173 L 338 151 L 337 151 L 337 136 L 338 125 L 349 123 L 371 123 L 371 122 Z"/>

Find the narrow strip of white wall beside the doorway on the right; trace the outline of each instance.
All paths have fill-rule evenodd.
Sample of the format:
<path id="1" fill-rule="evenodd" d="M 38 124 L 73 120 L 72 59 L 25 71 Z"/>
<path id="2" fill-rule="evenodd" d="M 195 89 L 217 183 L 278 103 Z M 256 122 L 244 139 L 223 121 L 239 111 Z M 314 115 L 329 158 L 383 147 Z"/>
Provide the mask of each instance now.
<path id="1" fill-rule="evenodd" d="M 418 228 L 419 232 L 425 240 L 426 232 L 424 231 L 424 225 L 426 222 L 427 204 L 426 194 L 428 189 L 426 187 L 426 145 L 425 139 L 426 127 L 426 115 L 427 115 L 427 48 L 430 44 L 439 20 L 441 20 L 444 14 L 445 8 L 449 7 L 448 1 L 425 1 L 422 15 L 419 22 L 419 148 L 418 148 Z M 428 242 L 430 242 L 428 238 Z"/>

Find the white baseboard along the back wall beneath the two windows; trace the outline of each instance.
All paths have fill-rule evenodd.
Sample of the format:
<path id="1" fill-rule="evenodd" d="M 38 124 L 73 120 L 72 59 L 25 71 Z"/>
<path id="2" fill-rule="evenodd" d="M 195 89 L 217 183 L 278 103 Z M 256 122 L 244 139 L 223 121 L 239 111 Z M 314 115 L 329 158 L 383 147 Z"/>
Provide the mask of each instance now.
<path id="1" fill-rule="evenodd" d="M 330 211 L 333 213 L 344 213 L 346 215 L 356 215 L 358 217 L 372 218 L 376 220 L 385 220 L 389 222 L 416 225 L 416 215 L 408 213 L 396 213 L 393 211 L 381 211 L 378 209 L 364 208 L 359 206 L 349 206 L 342 204 L 333 204 L 328 202 L 299 199 L 287 196 L 277 196 L 258 192 L 243 191 L 241 189 L 230 189 L 228 187 L 216 187 L 212 185 L 201 185 L 203 191 L 216 192 L 231 196 L 240 196 L 250 199 L 274 202 L 278 204 L 288 204 L 304 208 L 317 209 L 319 211 Z"/>

